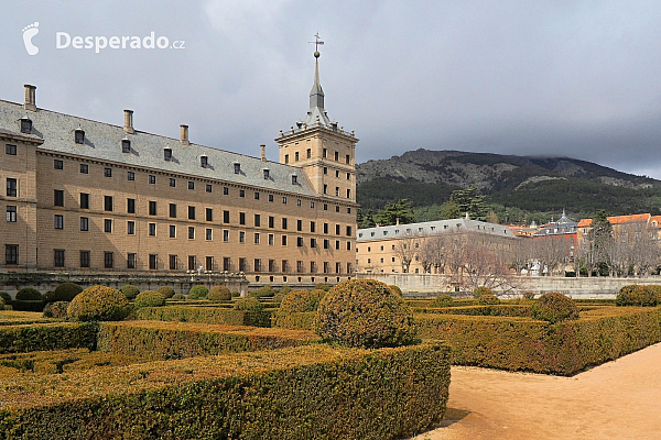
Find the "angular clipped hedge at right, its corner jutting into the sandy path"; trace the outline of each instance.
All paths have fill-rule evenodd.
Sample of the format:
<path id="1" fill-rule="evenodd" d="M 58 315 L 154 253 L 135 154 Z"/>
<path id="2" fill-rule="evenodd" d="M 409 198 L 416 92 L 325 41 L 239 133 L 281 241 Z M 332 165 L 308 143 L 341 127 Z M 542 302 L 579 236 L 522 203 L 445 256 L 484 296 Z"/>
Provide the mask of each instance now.
<path id="1" fill-rule="evenodd" d="M 661 341 L 661 308 L 600 307 L 574 321 L 419 314 L 419 336 L 444 339 L 453 363 L 572 375 Z"/>

